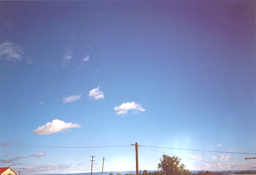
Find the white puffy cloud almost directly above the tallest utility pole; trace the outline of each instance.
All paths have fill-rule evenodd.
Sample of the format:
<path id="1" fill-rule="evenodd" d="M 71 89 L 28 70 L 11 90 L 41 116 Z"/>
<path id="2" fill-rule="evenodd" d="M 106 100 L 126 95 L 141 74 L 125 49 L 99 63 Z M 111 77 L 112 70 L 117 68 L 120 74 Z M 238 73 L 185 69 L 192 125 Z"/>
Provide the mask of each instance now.
<path id="1" fill-rule="evenodd" d="M 118 116 L 127 114 L 129 110 L 133 110 L 135 113 L 138 111 L 141 111 L 141 112 L 145 111 L 145 109 L 141 107 L 141 104 L 138 104 L 135 102 L 122 103 L 122 105 L 116 106 L 114 110 L 118 111 L 117 113 L 115 113 Z"/>

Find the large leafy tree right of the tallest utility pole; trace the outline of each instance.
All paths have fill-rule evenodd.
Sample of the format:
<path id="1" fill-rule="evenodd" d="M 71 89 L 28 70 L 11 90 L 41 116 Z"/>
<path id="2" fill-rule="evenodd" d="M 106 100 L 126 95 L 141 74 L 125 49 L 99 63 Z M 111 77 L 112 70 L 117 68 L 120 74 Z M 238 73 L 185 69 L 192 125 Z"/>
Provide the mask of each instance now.
<path id="1" fill-rule="evenodd" d="M 158 164 L 157 168 L 162 169 L 166 175 L 191 175 L 191 172 L 185 169 L 185 165 L 180 164 L 180 162 L 181 158 L 164 154 L 160 158 L 160 164 Z"/>

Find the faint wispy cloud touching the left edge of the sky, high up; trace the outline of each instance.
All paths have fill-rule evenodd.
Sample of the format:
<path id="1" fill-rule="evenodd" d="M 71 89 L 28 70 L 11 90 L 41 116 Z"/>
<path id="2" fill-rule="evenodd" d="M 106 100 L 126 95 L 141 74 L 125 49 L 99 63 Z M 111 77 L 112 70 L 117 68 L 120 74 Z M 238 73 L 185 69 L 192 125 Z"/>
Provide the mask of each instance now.
<path id="1" fill-rule="evenodd" d="M 0 58 L 6 60 L 21 60 L 22 55 L 24 55 L 23 49 L 9 40 L 0 44 Z"/>

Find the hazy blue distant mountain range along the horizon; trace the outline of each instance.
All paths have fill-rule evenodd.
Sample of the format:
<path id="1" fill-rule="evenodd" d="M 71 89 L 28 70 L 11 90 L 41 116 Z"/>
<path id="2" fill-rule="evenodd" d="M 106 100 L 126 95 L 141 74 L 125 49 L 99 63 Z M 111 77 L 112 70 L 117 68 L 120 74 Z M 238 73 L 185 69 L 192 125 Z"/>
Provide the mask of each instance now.
<path id="1" fill-rule="evenodd" d="M 147 172 L 157 172 L 159 170 L 152 170 L 152 171 L 147 171 Z M 243 171 L 243 170 L 241 170 Z M 245 170 L 247 171 L 247 170 Z M 250 171 L 256 171 L 256 170 L 250 170 Z M 205 172 L 205 171 L 190 171 L 192 173 L 198 173 L 198 172 Z M 227 171 L 210 171 L 210 172 L 227 172 Z M 235 171 L 235 172 L 239 172 L 239 171 Z M 136 174 L 136 171 L 107 171 L 107 172 L 103 172 L 103 175 L 109 175 L 110 173 L 113 173 L 114 175 L 116 175 L 117 173 L 121 173 L 122 175 L 124 174 L 129 174 L 129 173 L 133 173 Z M 52 175 L 52 174 L 42 174 L 42 175 Z M 90 172 L 85 172 L 85 173 L 71 173 L 71 174 L 55 174 L 55 175 L 90 175 Z M 102 175 L 102 172 L 93 172 L 92 175 Z"/>

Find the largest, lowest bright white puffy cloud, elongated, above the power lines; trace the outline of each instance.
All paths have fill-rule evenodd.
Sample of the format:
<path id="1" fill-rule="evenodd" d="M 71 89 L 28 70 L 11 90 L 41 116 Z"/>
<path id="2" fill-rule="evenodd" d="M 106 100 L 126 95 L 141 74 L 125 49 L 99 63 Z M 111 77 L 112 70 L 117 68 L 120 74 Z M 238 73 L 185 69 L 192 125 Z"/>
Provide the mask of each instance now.
<path id="1" fill-rule="evenodd" d="M 38 135 L 43 134 L 54 134 L 63 130 L 67 130 L 69 128 L 80 128 L 81 125 L 76 123 L 65 123 L 65 121 L 62 120 L 53 120 L 52 122 L 48 122 L 43 126 L 38 127 L 36 130 L 33 130 L 32 132 Z"/>

